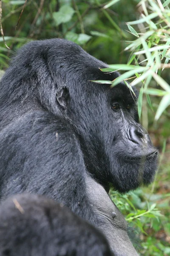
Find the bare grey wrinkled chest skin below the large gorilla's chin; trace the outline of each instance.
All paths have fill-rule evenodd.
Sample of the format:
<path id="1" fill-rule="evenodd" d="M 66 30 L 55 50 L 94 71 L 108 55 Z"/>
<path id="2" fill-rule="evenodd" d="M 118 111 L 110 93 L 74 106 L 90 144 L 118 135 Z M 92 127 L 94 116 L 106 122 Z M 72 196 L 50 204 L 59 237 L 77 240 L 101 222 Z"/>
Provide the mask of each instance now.
<path id="1" fill-rule="evenodd" d="M 86 189 L 91 206 L 100 217 L 99 230 L 105 234 L 115 256 L 138 256 L 127 235 L 125 218 L 105 189 L 89 175 L 86 177 Z"/>

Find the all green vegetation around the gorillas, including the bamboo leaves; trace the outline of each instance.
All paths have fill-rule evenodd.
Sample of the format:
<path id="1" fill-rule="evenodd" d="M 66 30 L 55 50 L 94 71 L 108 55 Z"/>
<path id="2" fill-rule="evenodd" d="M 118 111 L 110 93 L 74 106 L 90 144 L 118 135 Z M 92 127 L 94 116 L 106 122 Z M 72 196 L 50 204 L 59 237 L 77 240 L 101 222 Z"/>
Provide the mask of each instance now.
<path id="1" fill-rule="evenodd" d="M 141 255 L 170 255 L 170 0 L 0 0 L 0 6 L 1 70 L 26 42 L 60 37 L 111 64 L 103 71 L 120 70 L 111 86 L 125 81 L 132 94 L 139 88 L 139 117 L 160 150 L 158 173 L 149 188 L 111 191 L 111 198 L 137 230 Z"/>

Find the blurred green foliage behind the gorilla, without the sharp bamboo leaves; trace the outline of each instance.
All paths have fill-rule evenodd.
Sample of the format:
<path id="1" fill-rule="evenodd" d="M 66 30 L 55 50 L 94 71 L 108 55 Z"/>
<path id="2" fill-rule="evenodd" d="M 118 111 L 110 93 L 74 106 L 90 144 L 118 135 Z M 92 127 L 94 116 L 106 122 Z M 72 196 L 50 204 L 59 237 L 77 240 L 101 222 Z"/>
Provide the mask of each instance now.
<path id="1" fill-rule="evenodd" d="M 0 37 L 0 70 L 8 67 L 11 54 L 26 42 L 56 37 L 76 42 L 108 64 L 126 64 L 130 54 L 124 49 L 127 41 L 134 38 L 126 31 L 126 22 L 136 20 L 142 12 L 139 0 L 0 2 L 4 40 L 10 48 L 7 49 L 3 37 Z M 111 6 L 105 8 L 106 4 Z M 2 73 L 0 71 L 0 76 Z M 169 83 L 168 69 L 162 73 L 162 77 Z M 151 81 L 151 87 L 156 86 Z M 141 122 L 160 151 L 156 180 L 150 187 L 129 195 L 118 195 L 111 191 L 111 198 L 125 215 L 130 227 L 135 228 L 133 242 L 139 253 L 167 256 L 170 255 L 170 109 L 167 108 L 155 122 L 160 97 L 151 96 L 150 99 L 153 111 L 143 96 Z"/>

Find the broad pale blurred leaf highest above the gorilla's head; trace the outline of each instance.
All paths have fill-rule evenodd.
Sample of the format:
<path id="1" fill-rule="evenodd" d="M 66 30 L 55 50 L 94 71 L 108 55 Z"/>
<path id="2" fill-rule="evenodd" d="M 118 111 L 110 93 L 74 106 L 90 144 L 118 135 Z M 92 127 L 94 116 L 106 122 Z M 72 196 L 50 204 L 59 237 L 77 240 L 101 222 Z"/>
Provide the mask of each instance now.
<path id="1" fill-rule="evenodd" d="M 71 20 L 74 15 L 74 9 L 69 5 L 64 5 L 59 9 L 59 12 L 53 12 L 53 18 L 58 26 L 61 23 L 66 23 Z"/>

